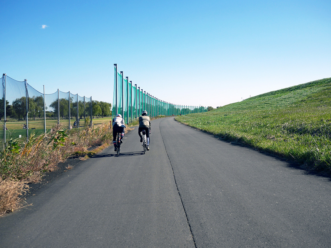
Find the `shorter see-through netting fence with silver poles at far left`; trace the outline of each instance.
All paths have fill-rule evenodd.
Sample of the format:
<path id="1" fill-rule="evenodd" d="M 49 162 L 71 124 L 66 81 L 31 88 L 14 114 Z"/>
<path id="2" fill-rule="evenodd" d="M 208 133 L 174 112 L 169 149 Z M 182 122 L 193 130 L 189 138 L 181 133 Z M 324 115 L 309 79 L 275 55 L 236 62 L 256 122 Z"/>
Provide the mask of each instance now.
<path id="1" fill-rule="evenodd" d="M 92 97 L 60 90 L 45 94 L 45 88 L 41 93 L 27 80 L 17 81 L 6 74 L 0 87 L 0 139 L 4 142 L 9 138 L 27 139 L 32 132 L 46 133 L 59 123 L 66 128 L 78 128 L 85 125 L 87 117 L 91 124 Z"/>

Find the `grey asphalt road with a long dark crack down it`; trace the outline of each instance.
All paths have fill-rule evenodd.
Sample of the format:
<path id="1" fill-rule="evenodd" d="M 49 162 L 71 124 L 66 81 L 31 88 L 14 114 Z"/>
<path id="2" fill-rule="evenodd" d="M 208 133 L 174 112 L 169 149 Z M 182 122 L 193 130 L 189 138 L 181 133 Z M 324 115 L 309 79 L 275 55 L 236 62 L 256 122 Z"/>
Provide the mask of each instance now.
<path id="1" fill-rule="evenodd" d="M 0 218 L 0 247 L 331 247 L 331 181 L 172 117 Z"/>

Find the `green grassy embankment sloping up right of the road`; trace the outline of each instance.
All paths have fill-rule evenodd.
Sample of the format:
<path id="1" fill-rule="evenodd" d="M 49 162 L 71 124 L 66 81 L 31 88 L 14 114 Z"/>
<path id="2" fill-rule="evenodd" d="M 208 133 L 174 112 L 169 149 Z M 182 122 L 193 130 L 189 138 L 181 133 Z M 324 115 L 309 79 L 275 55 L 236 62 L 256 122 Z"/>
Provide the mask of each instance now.
<path id="1" fill-rule="evenodd" d="M 176 120 L 331 172 L 331 78 L 272 91 Z"/>

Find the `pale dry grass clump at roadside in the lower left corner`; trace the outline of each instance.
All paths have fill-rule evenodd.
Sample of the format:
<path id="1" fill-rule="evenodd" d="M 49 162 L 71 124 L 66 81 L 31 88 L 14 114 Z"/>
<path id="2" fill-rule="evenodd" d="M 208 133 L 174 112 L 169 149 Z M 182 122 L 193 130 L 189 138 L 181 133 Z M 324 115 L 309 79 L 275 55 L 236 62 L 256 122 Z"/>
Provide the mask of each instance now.
<path id="1" fill-rule="evenodd" d="M 13 178 L 0 178 L 0 217 L 28 205 L 24 201 L 24 195 L 29 190 L 27 183 Z"/>

